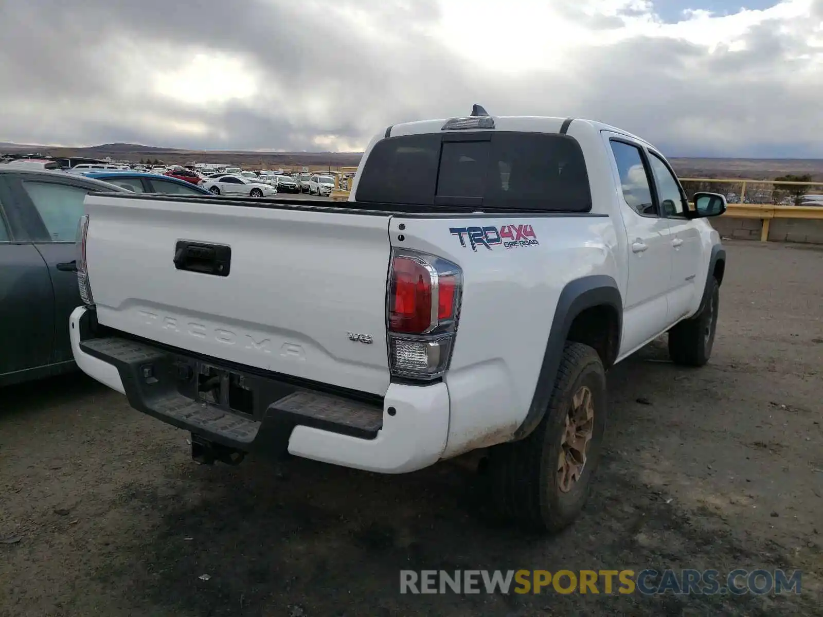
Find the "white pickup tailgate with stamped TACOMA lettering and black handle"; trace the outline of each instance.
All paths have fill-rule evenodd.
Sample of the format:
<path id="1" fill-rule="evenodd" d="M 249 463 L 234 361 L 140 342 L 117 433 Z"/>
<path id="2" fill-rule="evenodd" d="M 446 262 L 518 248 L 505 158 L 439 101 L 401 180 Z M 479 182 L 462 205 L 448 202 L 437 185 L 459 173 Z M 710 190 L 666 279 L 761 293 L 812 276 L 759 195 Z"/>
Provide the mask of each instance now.
<path id="1" fill-rule="evenodd" d="M 388 216 L 112 195 L 86 197 L 86 213 L 101 324 L 258 369 L 388 389 Z M 227 276 L 187 269 L 211 246 L 230 248 Z"/>

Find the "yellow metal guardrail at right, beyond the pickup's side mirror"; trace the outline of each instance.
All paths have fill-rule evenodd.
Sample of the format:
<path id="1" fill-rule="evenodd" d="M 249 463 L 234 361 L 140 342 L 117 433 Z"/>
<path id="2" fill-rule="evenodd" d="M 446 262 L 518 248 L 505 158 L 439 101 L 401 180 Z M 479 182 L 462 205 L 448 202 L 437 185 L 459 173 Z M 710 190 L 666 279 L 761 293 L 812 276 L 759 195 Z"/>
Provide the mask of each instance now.
<path id="1" fill-rule="evenodd" d="M 719 179 L 719 178 L 681 178 L 681 183 L 697 182 L 709 184 L 735 184 L 739 185 L 740 195 L 737 199 L 740 203 L 729 203 L 726 213 L 723 216 L 741 219 L 760 219 L 760 241 L 769 239 L 769 229 L 773 219 L 809 219 L 823 220 L 823 206 L 789 206 L 779 203 L 745 203 L 746 191 L 753 187 L 770 185 L 770 194 L 774 196 L 774 187 L 802 186 L 804 188 L 823 187 L 823 182 L 788 182 L 784 180 L 751 180 L 751 179 Z M 762 191 L 756 192 L 755 198 L 762 198 Z M 823 188 L 821 188 L 823 193 Z M 751 195 L 751 193 L 750 193 Z"/>

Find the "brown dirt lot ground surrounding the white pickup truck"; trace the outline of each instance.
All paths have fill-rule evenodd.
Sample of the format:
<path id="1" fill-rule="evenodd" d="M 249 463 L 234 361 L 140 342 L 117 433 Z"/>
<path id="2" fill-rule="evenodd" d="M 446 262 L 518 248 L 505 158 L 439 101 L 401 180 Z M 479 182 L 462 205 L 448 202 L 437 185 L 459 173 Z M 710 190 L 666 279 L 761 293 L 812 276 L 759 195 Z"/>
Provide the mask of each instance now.
<path id="1" fill-rule="evenodd" d="M 0 393 L 0 615 L 821 615 L 823 252 L 728 243 L 714 358 L 610 373 L 574 527 L 495 523 L 463 466 L 190 462 L 81 376 Z M 800 568 L 799 596 L 401 596 L 401 568 Z M 201 580 L 202 574 L 211 578 Z"/>

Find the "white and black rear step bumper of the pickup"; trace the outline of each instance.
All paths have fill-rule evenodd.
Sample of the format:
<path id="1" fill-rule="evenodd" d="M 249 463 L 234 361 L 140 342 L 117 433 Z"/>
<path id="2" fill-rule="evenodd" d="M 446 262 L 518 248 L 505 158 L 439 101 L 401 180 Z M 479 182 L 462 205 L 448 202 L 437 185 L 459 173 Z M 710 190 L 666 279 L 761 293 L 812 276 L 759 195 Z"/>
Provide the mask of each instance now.
<path id="1" fill-rule="evenodd" d="M 446 446 L 445 383 L 393 383 L 380 404 L 230 367 L 254 392 L 253 409 L 240 414 L 198 398 L 198 375 L 190 367 L 195 373 L 206 365 L 222 368 L 219 361 L 98 335 L 95 313 L 86 307 L 74 310 L 69 327 L 84 373 L 125 394 L 138 411 L 229 448 L 275 456 L 287 451 L 365 471 L 403 473 L 437 462 Z"/>

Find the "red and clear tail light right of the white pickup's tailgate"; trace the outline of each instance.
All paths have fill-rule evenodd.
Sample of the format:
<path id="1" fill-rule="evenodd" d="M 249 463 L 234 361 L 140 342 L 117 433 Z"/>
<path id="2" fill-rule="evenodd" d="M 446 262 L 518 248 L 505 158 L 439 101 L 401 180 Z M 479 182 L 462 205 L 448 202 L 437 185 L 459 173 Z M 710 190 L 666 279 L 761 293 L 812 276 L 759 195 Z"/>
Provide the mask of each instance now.
<path id="1" fill-rule="evenodd" d="M 394 376 L 430 380 L 449 368 L 463 272 L 440 257 L 395 249 L 388 277 L 388 355 Z"/>

